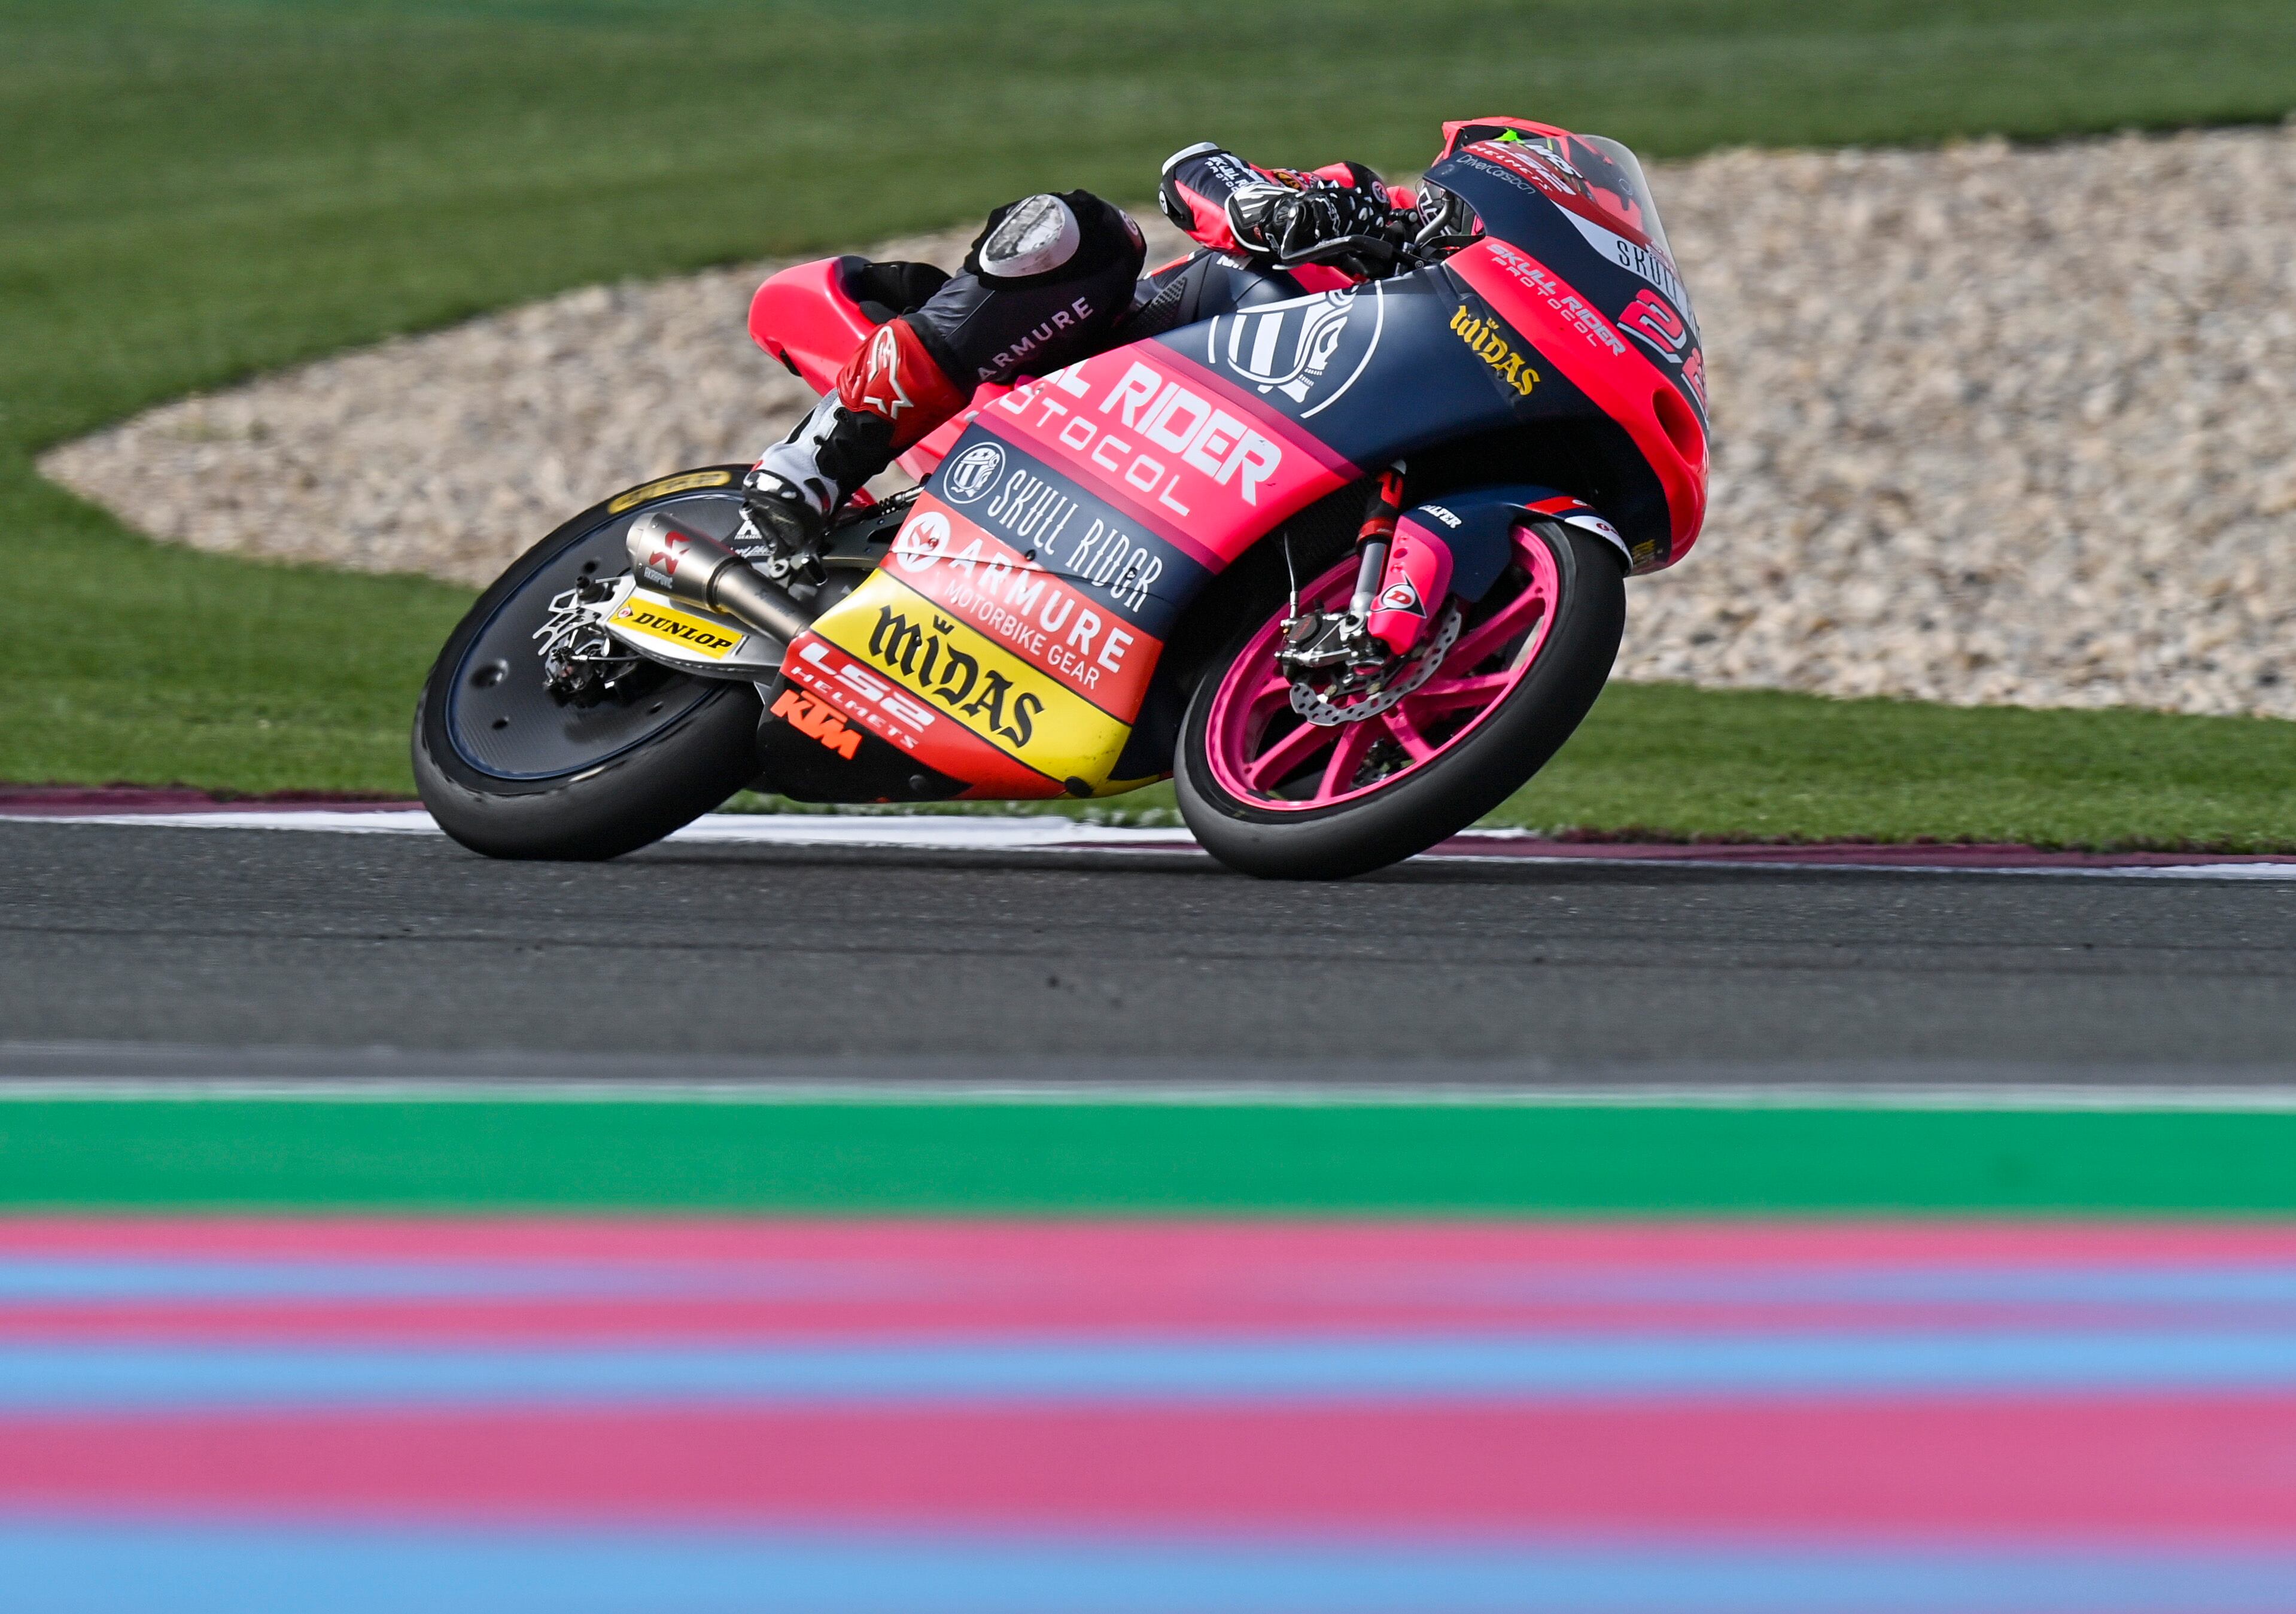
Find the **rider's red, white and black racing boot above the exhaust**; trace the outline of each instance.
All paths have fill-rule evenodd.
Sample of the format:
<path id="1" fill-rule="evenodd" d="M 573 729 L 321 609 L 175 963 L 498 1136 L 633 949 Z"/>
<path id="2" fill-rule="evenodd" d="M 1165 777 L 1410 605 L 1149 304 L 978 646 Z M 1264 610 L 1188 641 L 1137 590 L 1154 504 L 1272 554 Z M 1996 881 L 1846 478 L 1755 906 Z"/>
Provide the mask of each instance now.
<path id="1" fill-rule="evenodd" d="M 964 397 L 907 319 L 877 326 L 822 402 L 742 478 L 742 503 L 769 546 L 765 574 L 817 569 L 829 519 Z"/>

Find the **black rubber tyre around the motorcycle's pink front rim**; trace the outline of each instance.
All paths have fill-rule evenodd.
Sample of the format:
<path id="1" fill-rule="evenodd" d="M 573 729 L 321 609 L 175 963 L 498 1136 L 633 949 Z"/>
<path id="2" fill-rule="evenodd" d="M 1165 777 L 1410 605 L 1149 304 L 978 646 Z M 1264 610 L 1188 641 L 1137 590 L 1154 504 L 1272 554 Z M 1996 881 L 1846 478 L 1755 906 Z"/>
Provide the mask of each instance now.
<path id="1" fill-rule="evenodd" d="M 1570 739 L 1619 659 L 1626 572 L 1616 551 L 1577 528 L 1538 523 L 1554 558 L 1552 627 L 1520 680 L 1472 728 L 1394 783 L 1332 806 L 1258 806 L 1219 781 L 1212 705 L 1238 659 L 1267 631 L 1265 613 L 1212 657 L 1173 758 L 1180 815 L 1203 849 L 1263 879 L 1345 879 L 1426 852 L 1515 794 Z M 1272 602 L 1281 611 L 1281 602 Z M 1449 668 L 1446 668 L 1449 670 Z"/>

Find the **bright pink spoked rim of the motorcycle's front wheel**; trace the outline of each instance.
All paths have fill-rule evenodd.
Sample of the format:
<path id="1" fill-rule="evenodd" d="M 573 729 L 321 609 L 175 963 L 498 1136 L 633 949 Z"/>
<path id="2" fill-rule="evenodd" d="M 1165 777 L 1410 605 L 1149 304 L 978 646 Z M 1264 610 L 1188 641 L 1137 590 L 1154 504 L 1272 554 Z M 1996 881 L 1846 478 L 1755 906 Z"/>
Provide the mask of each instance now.
<path id="1" fill-rule="evenodd" d="M 1538 664 L 1561 599 L 1561 572 L 1545 542 L 1529 528 L 1515 528 L 1513 542 L 1520 590 L 1469 620 L 1426 684 L 1362 723 L 1318 728 L 1290 709 L 1290 682 L 1277 670 L 1283 620 L 1270 618 L 1212 693 L 1205 730 L 1212 781 L 1249 806 L 1309 813 L 1389 790 L 1467 739 Z M 1350 556 L 1300 599 L 1336 611 L 1352 588 Z"/>

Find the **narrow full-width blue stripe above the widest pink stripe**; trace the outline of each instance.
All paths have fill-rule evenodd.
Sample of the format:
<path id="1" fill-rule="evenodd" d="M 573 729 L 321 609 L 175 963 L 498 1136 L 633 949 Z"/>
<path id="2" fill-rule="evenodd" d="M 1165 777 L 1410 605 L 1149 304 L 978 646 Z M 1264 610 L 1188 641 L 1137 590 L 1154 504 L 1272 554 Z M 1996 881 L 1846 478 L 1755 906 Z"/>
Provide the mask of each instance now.
<path id="1" fill-rule="evenodd" d="M 2289 1391 L 2296 1334 L 1550 1334 L 804 1345 L 0 1345 L 0 1412 Z"/>

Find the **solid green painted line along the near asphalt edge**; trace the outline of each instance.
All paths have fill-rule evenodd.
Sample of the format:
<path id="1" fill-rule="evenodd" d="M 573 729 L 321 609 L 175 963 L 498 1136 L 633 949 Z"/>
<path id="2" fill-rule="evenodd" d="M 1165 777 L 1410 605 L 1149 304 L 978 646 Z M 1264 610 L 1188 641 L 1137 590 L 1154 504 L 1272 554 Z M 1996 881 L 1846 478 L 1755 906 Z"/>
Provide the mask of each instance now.
<path id="1" fill-rule="evenodd" d="M 2264 1215 L 2296 1116 L 25 1100 L 0 1208 Z"/>

